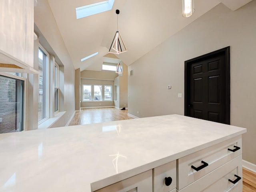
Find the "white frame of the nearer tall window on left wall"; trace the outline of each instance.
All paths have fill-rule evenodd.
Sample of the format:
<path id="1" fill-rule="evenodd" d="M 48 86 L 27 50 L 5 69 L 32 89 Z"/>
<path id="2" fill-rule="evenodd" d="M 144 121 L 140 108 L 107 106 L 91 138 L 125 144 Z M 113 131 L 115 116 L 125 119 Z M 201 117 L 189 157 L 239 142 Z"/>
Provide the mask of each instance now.
<path id="1" fill-rule="evenodd" d="M 39 47 L 38 47 L 38 50 L 41 49 L 44 54 L 46 55 L 46 75 L 45 75 L 45 78 L 46 78 L 46 118 L 38 121 L 38 125 L 40 125 L 41 123 L 43 123 L 44 121 L 48 120 L 49 119 L 49 115 L 50 115 L 50 98 L 49 98 L 49 93 L 50 93 L 50 79 L 49 79 L 49 76 L 50 76 L 50 54 L 48 53 L 48 51 L 46 51 L 46 49 L 39 43 Z M 38 78 L 39 80 L 39 78 Z M 38 90 L 39 90 L 39 83 L 38 83 Z M 38 93 L 38 97 L 39 97 L 39 93 Z"/>

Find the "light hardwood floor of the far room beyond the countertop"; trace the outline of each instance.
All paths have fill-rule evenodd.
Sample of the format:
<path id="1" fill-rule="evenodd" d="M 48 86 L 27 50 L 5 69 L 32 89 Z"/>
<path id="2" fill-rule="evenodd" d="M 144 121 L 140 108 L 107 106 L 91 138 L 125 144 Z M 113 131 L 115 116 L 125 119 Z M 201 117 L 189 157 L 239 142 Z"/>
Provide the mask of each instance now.
<path id="1" fill-rule="evenodd" d="M 127 113 L 128 110 L 118 110 L 116 108 L 82 109 L 81 112 L 75 113 L 69 126 L 133 119 Z"/>

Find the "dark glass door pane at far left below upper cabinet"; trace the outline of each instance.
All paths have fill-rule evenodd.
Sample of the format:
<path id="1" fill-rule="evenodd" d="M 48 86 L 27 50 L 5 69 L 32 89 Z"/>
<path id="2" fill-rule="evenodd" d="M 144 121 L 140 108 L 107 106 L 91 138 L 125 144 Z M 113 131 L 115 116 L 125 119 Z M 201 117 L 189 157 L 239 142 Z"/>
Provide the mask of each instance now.
<path id="1" fill-rule="evenodd" d="M 24 80 L 0 75 L 0 133 L 24 129 Z"/>

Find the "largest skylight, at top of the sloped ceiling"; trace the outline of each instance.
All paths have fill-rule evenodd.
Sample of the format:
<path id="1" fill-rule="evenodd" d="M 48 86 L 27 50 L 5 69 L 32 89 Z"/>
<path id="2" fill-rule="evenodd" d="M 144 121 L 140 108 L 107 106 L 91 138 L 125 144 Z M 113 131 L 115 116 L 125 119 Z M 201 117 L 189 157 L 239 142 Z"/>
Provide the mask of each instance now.
<path id="1" fill-rule="evenodd" d="M 76 19 L 102 13 L 112 9 L 115 0 L 102 1 L 76 8 Z"/>

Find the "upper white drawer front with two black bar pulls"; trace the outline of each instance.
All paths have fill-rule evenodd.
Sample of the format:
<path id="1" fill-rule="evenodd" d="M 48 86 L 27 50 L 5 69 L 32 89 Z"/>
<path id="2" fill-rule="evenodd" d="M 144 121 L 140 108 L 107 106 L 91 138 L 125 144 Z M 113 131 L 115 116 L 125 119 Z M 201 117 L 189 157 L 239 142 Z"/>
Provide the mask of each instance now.
<path id="1" fill-rule="evenodd" d="M 181 190 L 241 154 L 242 136 L 240 135 L 178 159 L 178 178 L 182 179 L 178 180 L 177 189 Z M 195 170 L 197 168 L 200 170 Z"/>

